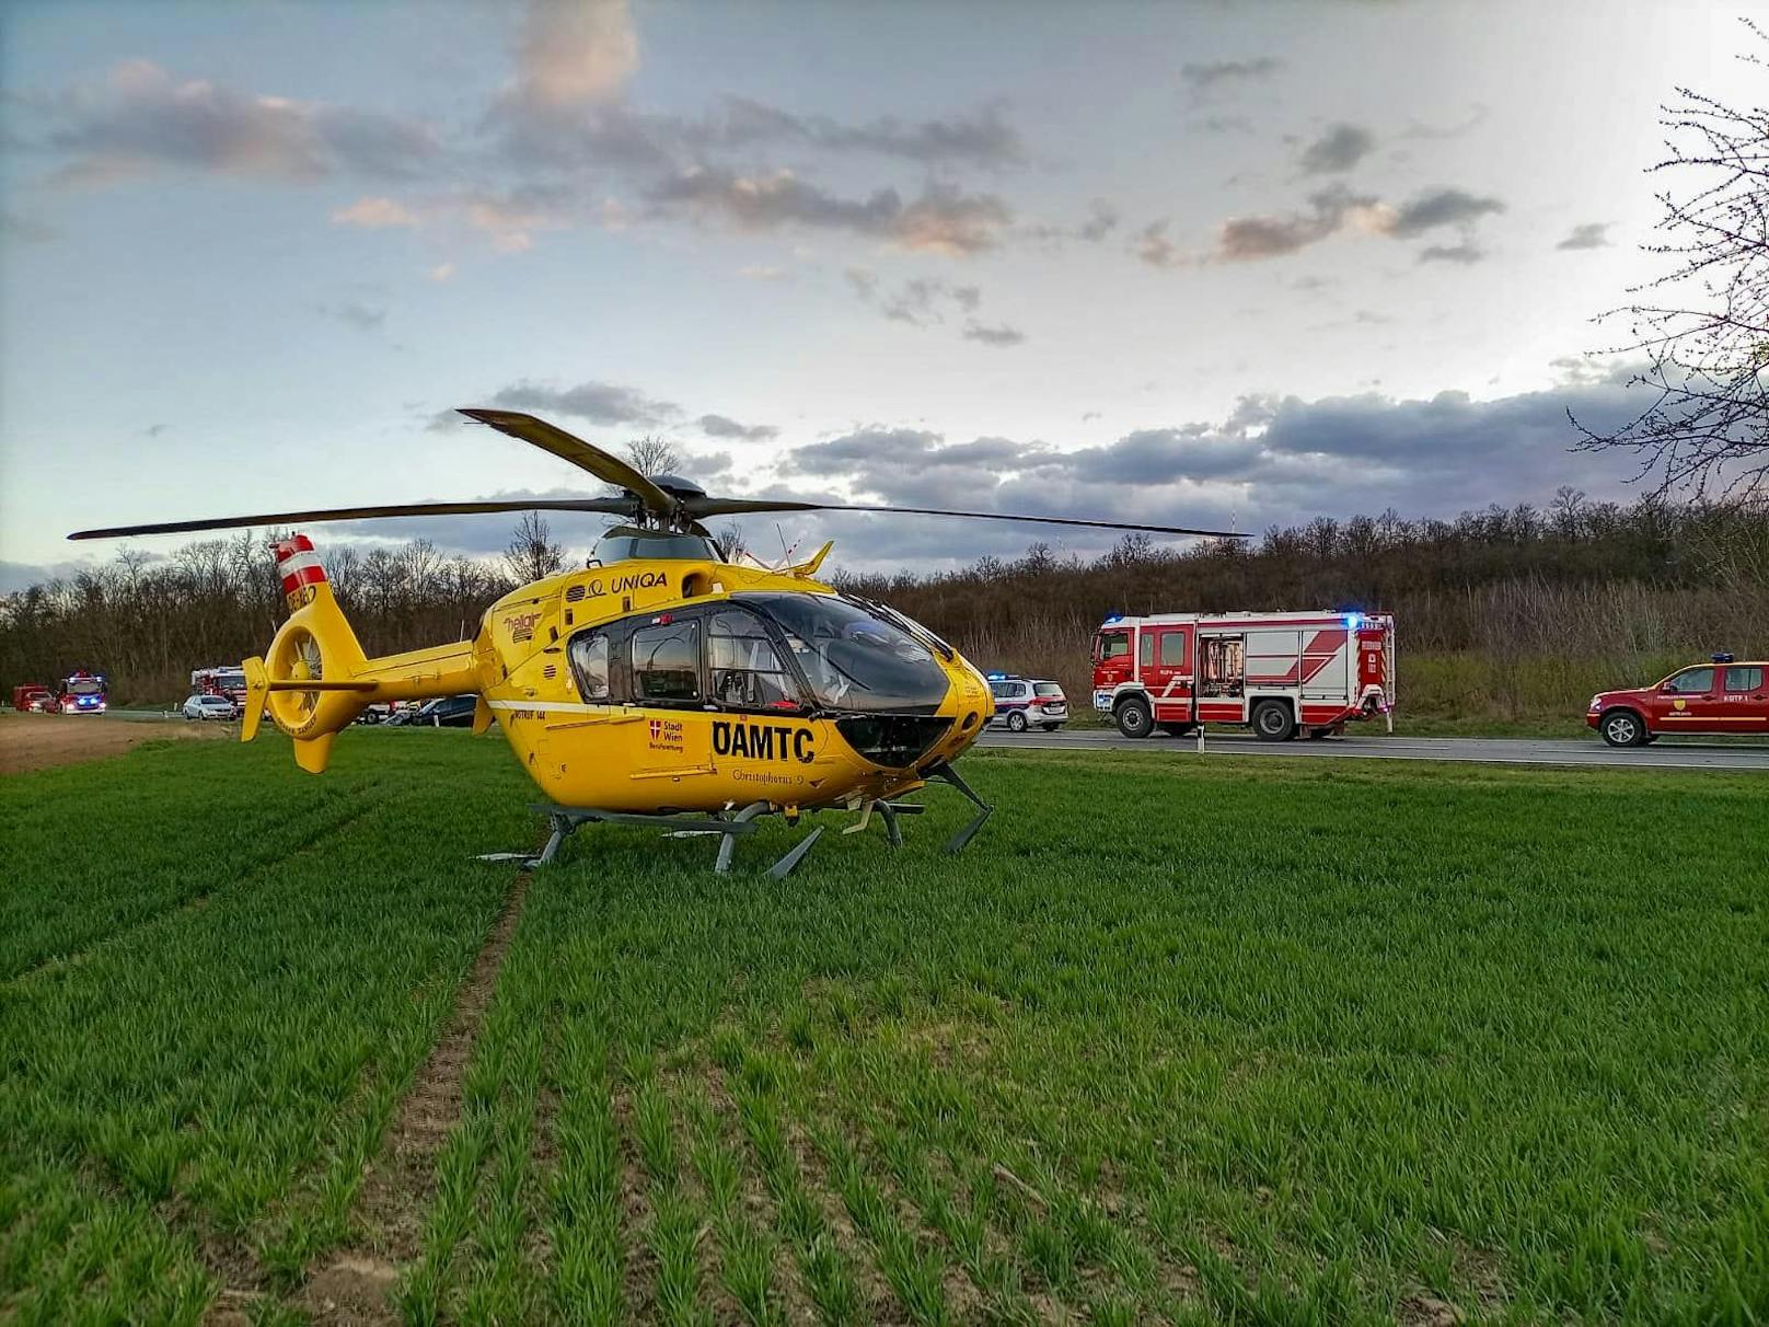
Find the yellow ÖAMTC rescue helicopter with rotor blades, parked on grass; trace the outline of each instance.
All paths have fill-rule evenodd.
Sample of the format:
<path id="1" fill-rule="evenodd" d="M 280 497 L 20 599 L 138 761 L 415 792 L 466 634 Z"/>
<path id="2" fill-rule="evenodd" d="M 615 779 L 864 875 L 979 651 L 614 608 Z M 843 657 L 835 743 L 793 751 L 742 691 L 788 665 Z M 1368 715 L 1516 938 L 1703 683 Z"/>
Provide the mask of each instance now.
<path id="1" fill-rule="evenodd" d="M 994 713 L 984 674 L 925 626 L 816 580 L 830 543 L 796 566 L 741 566 L 720 556 L 704 520 L 888 511 L 1235 538 L 1116 520 L 709 497 L 688 479 L 640 474 L 534 416 L 462 414 L 550 451 L 619 495 L 280 511 L 69 538 L 534 510 L 623 517 L 603 533 L 587 568 L 504 594 L 485 610 L 472 640 L 380 658 L 357 642 L 311 540 L 290 534 L 272 545 L 290 614 L 269 651 L 244 662 L 241 738 L 251 741 L 269 711 L 294 740 L 301 768 L 320 773 L 333 740 L 368 704 L 471 692 L 474 733 L 502 727 L 548 798 L 541 810 L 552 835 L 541 853 L 494 853 L 494 860 L 552 862 L 578 825 L 603 821 L 718 835 L 715 869 L 727 871 L 736 837 L 757 817 L 798 823 L 816 810 L 854 812 L 847 833 L 876 814 L 895 848 L 897 817 L 922 810 L 902 798 L 932 780 L 976 807 L 950 851 L 989 817 L 953 768 Z M 801 839 L 773 874 L 793 871 L 819 833 L 821 826 Z"/>

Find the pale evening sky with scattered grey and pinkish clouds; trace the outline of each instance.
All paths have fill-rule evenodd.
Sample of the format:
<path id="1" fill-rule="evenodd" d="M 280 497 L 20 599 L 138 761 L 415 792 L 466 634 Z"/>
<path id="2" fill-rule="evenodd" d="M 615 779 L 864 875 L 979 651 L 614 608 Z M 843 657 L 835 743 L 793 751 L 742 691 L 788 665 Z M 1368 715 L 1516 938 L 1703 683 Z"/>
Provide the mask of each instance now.
<path id="1" fill-rule="evenodd" d="M 455 405 L 734 494 L 1251 531 L 1624 495 L 1566 409 L 1627 405 L 1590 318 L 1658 271 L 1659 103 L 1758 92 L 1735 12 L 12 4 L 0 561 L 591 487 Z M 1040 536 L 782 527 L 922 570 Z"/>

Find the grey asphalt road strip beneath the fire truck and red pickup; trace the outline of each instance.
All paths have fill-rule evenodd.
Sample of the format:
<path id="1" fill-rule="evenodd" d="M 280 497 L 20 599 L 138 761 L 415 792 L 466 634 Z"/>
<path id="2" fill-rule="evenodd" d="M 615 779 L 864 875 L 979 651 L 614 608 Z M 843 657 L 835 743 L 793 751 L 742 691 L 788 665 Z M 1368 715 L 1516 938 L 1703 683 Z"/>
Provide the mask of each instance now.
<path id="1" fill-rule="evenodd" d="M 1183 750 L 1198 738 L 1153 736 L 1141 741 L 1111 729 L 1058 729 L 1056 733 L 1003 733 L 991 729 L 980 747 L 1001 750 Z M 1382 733 L 1321 741 L 1260 741 L 1251 733 L 1206 733 L 1206 756 L 1302 756 L 1357 761 L 1472 761 L 1477 764 L 1580 764 L 1633 770 L 1764 770 L 1769 743 L 1702 743 L 1698 738 L 1654 741 L 1650 747 L 1606 747 L 1599 738 L 1403 738 Z"/>

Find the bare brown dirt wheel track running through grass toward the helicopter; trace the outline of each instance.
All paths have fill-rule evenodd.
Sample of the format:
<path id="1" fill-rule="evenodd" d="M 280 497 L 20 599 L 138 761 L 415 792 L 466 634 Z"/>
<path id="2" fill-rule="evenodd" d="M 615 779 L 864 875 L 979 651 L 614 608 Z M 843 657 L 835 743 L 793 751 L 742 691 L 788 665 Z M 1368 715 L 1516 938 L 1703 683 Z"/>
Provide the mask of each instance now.
<path id="1" fill-rule="evenodd" d="M 363 1230 L 363 1237 L 336 1249 L 325 1267 L 310 1270 L 295 1293 L 295 1302 L 313 1322 L 398 1322 L 389 1295 L 402 1265 L 421 1253 L 423 1217 L 435 1196 L 437 1154 L 460 1120 L 467 1062 L 497 989 L 504 954 L 522 920 L 529 879 L 531 872 L 522 871 L 511 881 L 504 909 L 462 982 L 455 1012 L 400 1101 L 380 1154 L 363 1177 L 352 1210 L 352 1224 Z"/>

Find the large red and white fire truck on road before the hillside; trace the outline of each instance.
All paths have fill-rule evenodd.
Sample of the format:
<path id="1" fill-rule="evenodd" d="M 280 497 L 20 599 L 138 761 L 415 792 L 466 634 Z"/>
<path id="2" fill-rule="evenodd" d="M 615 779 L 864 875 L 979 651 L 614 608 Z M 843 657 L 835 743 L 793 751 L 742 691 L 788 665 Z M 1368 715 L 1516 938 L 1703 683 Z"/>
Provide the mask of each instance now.
<path id="1" fill-rule="evenodd" d="M 1107 617 L 1093 637 L 1093 708 L 1127 738 L 1180 736 L 1199 724 L 1251 724 L 1268 741 L 1323 738 L 1375 715 L 1392 731 L 1394 617 Z"/>

